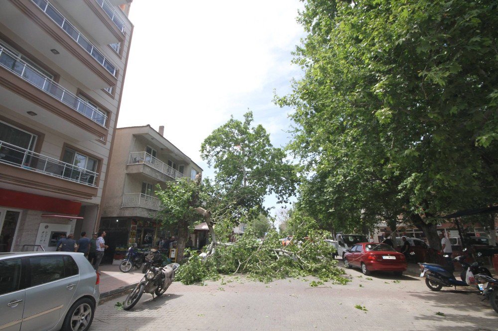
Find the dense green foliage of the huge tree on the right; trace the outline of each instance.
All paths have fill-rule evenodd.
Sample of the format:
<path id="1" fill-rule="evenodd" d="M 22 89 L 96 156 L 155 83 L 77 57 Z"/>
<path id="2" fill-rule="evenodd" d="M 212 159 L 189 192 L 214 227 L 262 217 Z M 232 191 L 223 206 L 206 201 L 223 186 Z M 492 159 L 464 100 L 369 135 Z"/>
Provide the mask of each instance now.
<path id="1" fill-rule="evenodd" d="M 437 218 L 498 197 L 498 3 L 307 0 L 291 151 L 324 224 Z"/>

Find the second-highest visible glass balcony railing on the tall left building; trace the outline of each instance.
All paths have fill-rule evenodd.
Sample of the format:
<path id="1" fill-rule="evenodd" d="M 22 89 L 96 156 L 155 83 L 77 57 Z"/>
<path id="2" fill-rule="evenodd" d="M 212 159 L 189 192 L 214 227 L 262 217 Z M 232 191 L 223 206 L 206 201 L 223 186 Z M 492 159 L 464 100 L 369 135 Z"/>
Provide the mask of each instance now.
<path id="1" fill-rule="evenodd" d="M 52 19 L 55 24 L 59 25 L 64 32 L 67 33 L 74 41 L 78 43 L 88 54 L 90 54 L 104 69 L 116 77 L 118 69 L 114 64 L 111 63 L 97 48 L 85 38 L 78 29 L 74 27 L 73 24 L 57 10 L 50 2 L 47 0 L 31 0 L 36 4 L 50 19 Z"/>

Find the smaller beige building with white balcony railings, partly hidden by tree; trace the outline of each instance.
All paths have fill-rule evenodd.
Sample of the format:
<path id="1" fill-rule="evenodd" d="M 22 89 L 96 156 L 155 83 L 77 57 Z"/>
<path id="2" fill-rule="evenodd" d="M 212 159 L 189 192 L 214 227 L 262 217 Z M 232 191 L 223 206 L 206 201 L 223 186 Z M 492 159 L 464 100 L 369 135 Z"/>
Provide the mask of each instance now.
<path id="1" fill-rule="evenodd" d="M 106 261 L 131 244 L 151 247 L 159 238 L 177 235 L 156 222 L 156 185 L 178 177 L 194 179 L 202 169 L 163 135 L 163 126 L 159 131 L 150 125 L 116 130 L 100 223 L 110 246 Z"/>

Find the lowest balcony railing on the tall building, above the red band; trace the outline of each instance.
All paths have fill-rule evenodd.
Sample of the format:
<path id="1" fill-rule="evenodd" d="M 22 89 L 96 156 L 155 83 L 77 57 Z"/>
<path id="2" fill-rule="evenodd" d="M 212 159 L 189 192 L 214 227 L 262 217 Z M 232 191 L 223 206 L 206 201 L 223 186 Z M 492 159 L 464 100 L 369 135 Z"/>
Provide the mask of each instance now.
<path id="1" fill-rule="evenodd" d="M 97 172 L 31 152 L 0 140 L 0 163 L 96 186 Z"/>

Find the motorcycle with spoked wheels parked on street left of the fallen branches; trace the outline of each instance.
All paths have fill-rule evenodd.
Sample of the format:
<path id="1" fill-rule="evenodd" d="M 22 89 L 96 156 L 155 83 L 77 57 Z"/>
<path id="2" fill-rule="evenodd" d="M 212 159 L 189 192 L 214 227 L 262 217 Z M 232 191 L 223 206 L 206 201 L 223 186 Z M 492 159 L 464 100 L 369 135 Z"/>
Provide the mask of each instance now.
<path id="1" fill-rule="evenodd" d="M 178 263 L 171 263 L 164 267 L 150 267 L 140 282 L 124 299 L 123 309 L 130 310 L 140 300 L 143 292 L 161 296 L 168 289 L 169 285 L 175 278 L 176 269 L 180 265 Z"/>

